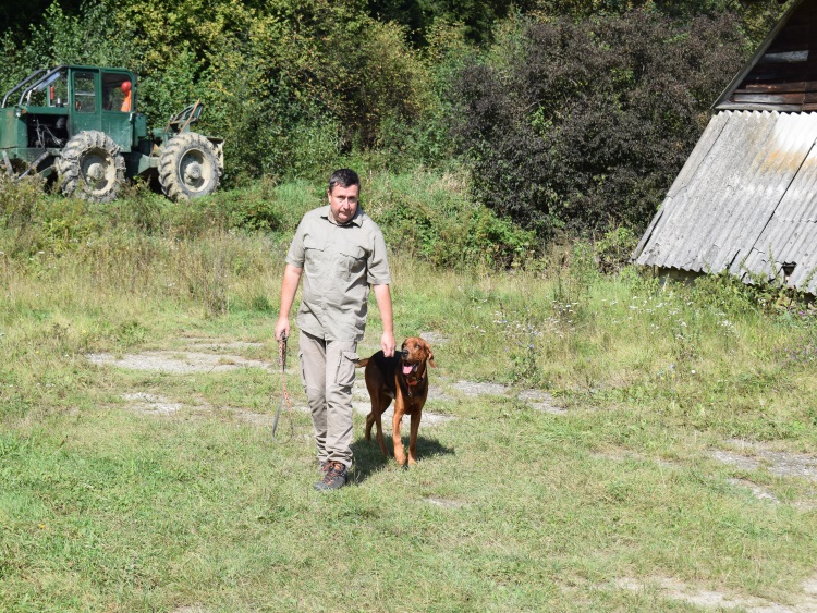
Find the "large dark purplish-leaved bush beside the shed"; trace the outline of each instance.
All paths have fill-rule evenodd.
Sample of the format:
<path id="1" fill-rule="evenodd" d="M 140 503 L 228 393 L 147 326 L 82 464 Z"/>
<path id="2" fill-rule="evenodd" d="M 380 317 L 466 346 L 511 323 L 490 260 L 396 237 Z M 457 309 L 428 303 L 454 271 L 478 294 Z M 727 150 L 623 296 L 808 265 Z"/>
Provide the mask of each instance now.
<path id="1" fill-rule="evenodd" d="M 456 85 L 475 194 L 542 235 L 644 226 L 742 41 L 731 15 L 520 20 Z"/>

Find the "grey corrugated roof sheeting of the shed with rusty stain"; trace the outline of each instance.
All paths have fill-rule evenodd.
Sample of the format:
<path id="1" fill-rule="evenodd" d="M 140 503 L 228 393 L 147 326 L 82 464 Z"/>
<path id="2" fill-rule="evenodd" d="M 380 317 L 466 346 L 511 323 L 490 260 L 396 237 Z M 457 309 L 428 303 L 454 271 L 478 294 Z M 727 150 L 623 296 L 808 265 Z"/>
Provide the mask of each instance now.
<path id="1" fill-rule="evenodd" d="M 647 229 L 637 263 L 817 294 L 817 113 L 723 111 L 698 140 Z"/>

